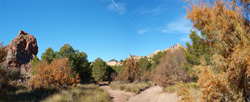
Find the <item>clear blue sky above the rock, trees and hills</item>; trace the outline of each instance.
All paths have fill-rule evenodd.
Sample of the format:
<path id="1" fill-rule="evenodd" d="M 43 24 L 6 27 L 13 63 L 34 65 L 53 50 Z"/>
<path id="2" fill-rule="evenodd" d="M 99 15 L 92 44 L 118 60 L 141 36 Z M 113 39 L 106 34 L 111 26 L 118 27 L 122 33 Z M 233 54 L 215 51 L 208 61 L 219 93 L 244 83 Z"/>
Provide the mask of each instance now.
<path id="1" fill-rule="evenodd" d="M 38 57 L 69 43 L 88 60 L 148 55 L 185 45 L 191 23 L 184 0 L 0 0 L 0 40 L 19 30 L 36 37 Z"/>

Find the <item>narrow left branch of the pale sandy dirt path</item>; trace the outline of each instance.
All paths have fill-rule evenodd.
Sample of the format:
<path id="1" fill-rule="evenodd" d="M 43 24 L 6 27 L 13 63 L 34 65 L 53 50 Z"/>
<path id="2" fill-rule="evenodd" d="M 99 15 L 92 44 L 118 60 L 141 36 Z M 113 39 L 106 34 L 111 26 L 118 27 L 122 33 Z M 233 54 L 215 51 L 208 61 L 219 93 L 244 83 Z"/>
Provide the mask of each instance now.
<path id="1" fill-rule="evenodd" d="M 132 92 L 113 90 L 109 86 L 101 86 L 100 88 L 106 90 L 109 93 L 111 102 L 127 102 L 130 97 L 136 95 Z"/>

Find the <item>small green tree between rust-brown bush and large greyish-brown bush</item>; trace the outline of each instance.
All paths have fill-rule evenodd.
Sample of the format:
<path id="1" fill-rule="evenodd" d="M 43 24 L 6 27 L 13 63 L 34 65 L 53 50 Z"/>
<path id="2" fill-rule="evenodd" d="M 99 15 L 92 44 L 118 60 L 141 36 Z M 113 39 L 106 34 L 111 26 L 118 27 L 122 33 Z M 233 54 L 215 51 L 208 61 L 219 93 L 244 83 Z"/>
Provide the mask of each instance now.
<path id="1" fill-rule="evenodd" d="M 138 63 L 139 63 L 139 68 L 143 74 L 146 71 L 150 71 L 151 63 L 150 63 L 150 61 L 148 61 L 148 59 L 146 57 L 140 58 Z"/>

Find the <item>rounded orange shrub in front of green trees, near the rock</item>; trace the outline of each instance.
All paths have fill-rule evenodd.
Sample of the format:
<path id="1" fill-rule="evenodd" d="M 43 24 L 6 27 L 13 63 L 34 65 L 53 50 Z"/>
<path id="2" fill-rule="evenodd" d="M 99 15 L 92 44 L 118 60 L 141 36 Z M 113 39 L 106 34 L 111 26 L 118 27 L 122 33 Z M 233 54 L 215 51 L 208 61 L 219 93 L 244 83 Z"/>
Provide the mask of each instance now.
<path id="1" fill-rule="evenodd" d="M 68 58 L 53 59 L 38 63 L 34 68 L 35 75 L 30 79 L 32 89 L 47 87 L 67 88 L 80 82 L 79 74 L 73 77 L 73 71 L 67 66 Z"/>

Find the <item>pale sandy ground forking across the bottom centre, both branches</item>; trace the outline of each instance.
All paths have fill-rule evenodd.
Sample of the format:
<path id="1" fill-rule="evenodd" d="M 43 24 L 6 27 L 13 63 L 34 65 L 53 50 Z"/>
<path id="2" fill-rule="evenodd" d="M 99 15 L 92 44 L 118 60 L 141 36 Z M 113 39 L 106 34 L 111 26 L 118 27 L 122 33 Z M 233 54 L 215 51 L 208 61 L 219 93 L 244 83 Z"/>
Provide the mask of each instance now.
<path id="1" fill-rule="evenodd" d="M 112 90 L 109 86 L 101 86 L 111 97 L 111 102 L 177 102 L 176 93 L 164 93 L 160 86 L 151 86 L 139 95 L 121 90 Z"/>

